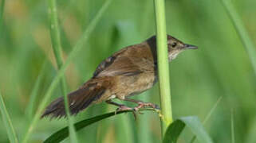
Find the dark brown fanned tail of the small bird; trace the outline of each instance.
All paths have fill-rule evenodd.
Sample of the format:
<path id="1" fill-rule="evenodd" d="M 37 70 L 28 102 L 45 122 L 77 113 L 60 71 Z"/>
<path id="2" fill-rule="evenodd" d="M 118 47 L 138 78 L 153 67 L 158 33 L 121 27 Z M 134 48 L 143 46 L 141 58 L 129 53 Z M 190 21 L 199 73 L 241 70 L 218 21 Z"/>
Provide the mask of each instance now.
<path id="1" fill-rule="evenodd" d="M 97 83 L 85 83 L 85 85 L 77 91 L 71 92 L 68 95 L 70 113 L 77 114 L 81 110 L 84 110 L 93 101 L 100 99 L 100 96 L 104 94 L 104 91 L 105 88 L 102 85 Z M 46 107 L 41 118 L 44 118 L 45 116 L 50 116 L 51 118 L 61 118 L 66 116 L 63 97 L 54 100 Z"/>

